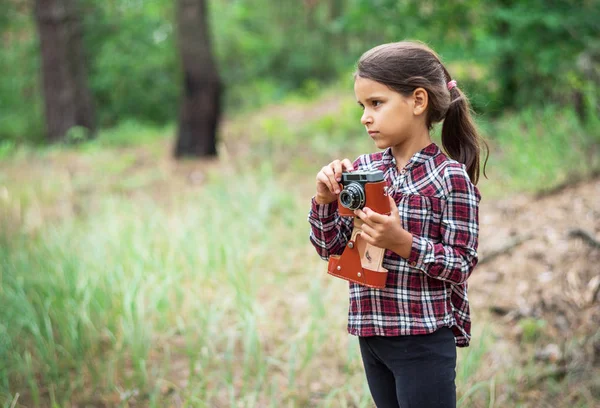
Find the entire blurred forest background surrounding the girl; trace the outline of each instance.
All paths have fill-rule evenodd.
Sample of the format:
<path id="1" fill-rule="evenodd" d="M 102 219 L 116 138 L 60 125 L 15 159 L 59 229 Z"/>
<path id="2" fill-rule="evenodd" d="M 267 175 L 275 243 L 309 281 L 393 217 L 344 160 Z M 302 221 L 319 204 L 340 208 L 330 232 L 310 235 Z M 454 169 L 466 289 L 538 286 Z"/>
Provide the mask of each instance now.
<path id="1" fill-rule="evenodd" d="M 600 404 L 597 0 L 0 4 L 0 404 L 372 406 L 306 217 L 402 39 L 490 146 L 459 406 Z"/>

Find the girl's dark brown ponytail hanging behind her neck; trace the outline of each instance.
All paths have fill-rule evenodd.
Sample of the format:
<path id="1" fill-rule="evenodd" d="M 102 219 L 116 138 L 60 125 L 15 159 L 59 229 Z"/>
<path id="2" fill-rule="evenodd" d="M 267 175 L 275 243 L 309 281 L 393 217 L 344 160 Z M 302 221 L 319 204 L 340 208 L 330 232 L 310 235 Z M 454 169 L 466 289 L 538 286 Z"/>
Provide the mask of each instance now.
<path id="1" fill-rule="evenodd" d="M 456 86 L 449 86 L 449 88 L 451 88 L 450 97 L 452 100 L 442 125 L 442 146 L 452 159 L 465 165 L 471 181 L 473 184 L 477 184 L 479 181 L 481 149 L 484 147 L 486 151 L 483 164 L 483 175 L 486 176 L 485 166 L 489 156 L 489 148 L 477 132 L 471 116 L 471 106 L 466 95 Z"/>

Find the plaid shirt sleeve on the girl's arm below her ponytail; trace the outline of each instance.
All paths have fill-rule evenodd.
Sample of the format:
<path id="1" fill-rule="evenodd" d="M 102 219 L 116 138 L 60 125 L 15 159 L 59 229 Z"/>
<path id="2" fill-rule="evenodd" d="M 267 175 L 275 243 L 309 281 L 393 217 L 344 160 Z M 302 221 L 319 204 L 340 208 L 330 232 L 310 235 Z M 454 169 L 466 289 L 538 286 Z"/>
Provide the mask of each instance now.
<path id="1" fill-rule="evenodd" d="M 441 242 L 413 235 L 408 262 L 432 278 L 462 284 L 477 264 L 481 196 L 462 166 L 448 167 L 444 183 Z"/>

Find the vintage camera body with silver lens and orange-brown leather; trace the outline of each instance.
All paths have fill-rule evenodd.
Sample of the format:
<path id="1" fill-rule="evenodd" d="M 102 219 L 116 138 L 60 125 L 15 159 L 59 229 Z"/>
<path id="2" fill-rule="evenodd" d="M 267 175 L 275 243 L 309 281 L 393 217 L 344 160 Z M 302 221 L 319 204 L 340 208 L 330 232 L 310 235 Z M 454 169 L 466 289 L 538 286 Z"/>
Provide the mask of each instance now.
<path id="1" fill-rule="evenodd" d="M 344 188 L 338 196 L 340 215 L 354 216 L 354 210 L 364 207 L 380 214 L 390 213 L 382 171 L 344 172 L 341 184 Z"/>

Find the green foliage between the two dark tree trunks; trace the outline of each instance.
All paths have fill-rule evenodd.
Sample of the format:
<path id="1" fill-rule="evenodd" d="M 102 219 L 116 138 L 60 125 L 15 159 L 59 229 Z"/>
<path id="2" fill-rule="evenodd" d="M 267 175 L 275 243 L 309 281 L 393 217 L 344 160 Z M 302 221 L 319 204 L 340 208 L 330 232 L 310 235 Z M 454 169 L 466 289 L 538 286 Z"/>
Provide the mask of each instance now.
<path id="1" fill-rule="evenodd" d="M 101 126 L 174 121 L 179 61 L 173 1 L 83 0 L 90 84 Z"/>

